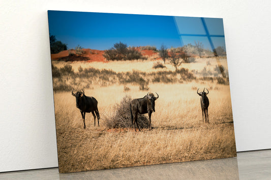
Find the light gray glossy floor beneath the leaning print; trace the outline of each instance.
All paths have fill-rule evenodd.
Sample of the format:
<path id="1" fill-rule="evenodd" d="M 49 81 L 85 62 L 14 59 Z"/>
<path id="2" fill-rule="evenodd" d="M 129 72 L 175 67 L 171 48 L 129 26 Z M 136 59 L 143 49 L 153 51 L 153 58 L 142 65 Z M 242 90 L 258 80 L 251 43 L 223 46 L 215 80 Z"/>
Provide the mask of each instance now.
<path id="1" fill-rule="evenodd" d="M 0 179 L 271 179 L 271 150 L 237 158 L 59 174 L 58 168 L 0 173 Z"/>

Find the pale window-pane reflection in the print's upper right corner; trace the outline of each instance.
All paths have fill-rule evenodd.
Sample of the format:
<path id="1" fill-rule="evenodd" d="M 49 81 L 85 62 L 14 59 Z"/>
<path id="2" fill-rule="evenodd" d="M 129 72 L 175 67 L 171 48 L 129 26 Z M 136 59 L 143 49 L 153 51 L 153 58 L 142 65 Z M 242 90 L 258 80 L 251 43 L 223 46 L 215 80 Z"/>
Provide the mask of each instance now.
<path id="1" fill-rule="evenodd" d="M 180 43 L 186 57 L 198 54 L 202 57 L 217 57 L 214 68 L 223 78 L 228 77 L 227 63 L 221 62 L 218 56 L 226 57 L 223 19 L 199 17 L 173 17 L 178 31 Z M 188 58 L 187 58 L 188 59 Z M 208 66 L 208 63 L 206 63 Z M 204 67 L 203 77 L 209 76 L 210 69 Z M 214 75 L 218 76 L 218 75 Z"/>

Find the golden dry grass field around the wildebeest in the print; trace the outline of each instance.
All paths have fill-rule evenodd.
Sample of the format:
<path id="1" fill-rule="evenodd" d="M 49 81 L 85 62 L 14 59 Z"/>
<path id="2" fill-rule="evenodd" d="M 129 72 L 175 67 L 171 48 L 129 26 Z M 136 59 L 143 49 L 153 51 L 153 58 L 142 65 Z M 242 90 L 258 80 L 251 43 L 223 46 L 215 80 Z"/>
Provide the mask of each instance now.
<path id="1" fill-rule="evenodd" d="M 219 59 L 219 62 L 227 71 L 226 59 Z M 120 73 L 133 69 L 156 72 L 158 69 L 152 68 L 153 63 L 154 61 L 150 60 L 107 63 L 53 61 L 58 68 L 71 64 L 75 72 L 81 66 L 112 69 Z M 182 64 L 182 67 L 200 71 L 206 66 L 210 71 L 214 71 L 217 64 L 218 59 L 215 58 L 197 59 L 195 63 Z M 171 65 L 166 66 L 164 71 L 174 71 Z M 197 74 L 196 77 L 199 76 L 201 75 Z M 176 77 L 182 78 L 177 75 Z M 77 81 L 70 79 L 69 76 L 61 78 L 66 78 L 71 86 L 77 81 L 91 81 L 80 77 L 77 77 Z M 59 79 L 54 78 L 54 84 Z M 98 100 L 100 127 L 97 123 L 94 127 L 94 118 L 92 114 L 87 113 L 86 129 L 83 129 L 75 97 L 71 92 L 54 92 L 59 172 L 236 156 L 229 85 L 198 78 L 174 83 L 149 81 L 147 85 L 149 89 L 140 91 L 135 83 L 124 84 L 115 81 L 100 85 L 95 82 L 96 80 L 92 80 L 91 85 L 84 91 L 85 95 L 94 96 Z M 80 85 L 76 85 L 78 86 Z M 124 91 L 125 86 L 130 90 Z M 196 93 L 197 88 L 202 91 L 204 87 L 209 90 L 209 124 L 202 122 L 200 96 Z M 152 115 L 152 130 L 143 129 L 141 132 L 134 132 L 131 128 L 109 129 L 106 126 L 105 121 L 114 114 L 114 105 L 124 96 L 139 98 L 148 91 L 159 94 L 156 112 Z"/>

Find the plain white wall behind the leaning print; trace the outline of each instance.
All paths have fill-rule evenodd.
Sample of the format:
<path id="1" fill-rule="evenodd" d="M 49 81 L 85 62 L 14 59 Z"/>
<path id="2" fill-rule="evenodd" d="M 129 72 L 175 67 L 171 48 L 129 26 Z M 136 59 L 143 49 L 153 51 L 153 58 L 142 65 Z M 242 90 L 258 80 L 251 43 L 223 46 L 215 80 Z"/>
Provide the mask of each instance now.
<path id="1" fill-rule="evenodd" d="M 57 166 L 47 10 L 224 19 L 237 151 L 271 148 L 270 1 L 1 1 L 0 171 Z"/>

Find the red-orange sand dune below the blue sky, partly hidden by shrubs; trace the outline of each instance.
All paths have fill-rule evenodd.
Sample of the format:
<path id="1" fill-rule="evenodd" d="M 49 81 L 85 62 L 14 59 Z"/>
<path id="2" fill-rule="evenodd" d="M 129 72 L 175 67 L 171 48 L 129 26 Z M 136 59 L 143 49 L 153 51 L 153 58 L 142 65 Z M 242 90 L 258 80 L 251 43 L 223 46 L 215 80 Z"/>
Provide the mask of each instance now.
<path id="1" fill-rule="evenodd" d="M 152 56 L 157 52 L 153 50 L 139 50 L 143 56 Z M 51 54 L 52 60 L 64 60 L 64 61 L 86 61 L 86 62 L 107 62 L 103 56 L 104 51 L 94 49 L 82 49 L 82 53 L 76 54 L 75 50 L 66 50 L 57 54 Z"/>

